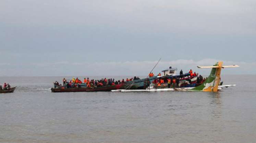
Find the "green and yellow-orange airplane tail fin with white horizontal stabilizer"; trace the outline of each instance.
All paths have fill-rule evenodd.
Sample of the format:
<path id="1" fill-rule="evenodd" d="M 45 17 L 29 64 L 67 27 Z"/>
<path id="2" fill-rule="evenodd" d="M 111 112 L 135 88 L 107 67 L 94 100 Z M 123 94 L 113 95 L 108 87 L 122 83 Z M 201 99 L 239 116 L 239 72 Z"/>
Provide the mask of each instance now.
<path id="1" fill-rule="evenodd" d="M 221 68 L 239 67 L 238 65 L 222 66 L 223 62 L 219 61 L 213 66 L 197 66 L 198 68 L 212 68 L 211 73 L 203 84 L 191 89 L 194 91 L 218 92 L 220 82 Z"/>

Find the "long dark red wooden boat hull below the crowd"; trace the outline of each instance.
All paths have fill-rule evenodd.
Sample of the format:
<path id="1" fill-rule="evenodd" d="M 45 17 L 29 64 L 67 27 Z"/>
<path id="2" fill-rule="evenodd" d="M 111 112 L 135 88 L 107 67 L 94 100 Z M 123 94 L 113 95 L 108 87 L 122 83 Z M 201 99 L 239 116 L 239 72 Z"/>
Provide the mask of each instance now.
<path id="1" fill-rule="evenodd" d="M 51 88 L 51 92 L 102 92 L 102 91 L 111 91 L 111 90 L 118 90 L 123 86 L 123 83 L 117 85 L 109 85 L 109 86 L 101 86 L 96 88 Z"/>

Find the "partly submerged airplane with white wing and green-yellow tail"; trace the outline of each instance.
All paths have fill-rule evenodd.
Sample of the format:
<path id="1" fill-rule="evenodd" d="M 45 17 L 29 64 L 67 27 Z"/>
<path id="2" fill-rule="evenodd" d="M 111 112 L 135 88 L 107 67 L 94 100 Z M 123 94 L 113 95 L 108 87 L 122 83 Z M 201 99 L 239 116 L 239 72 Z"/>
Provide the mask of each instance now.
<path id="1" fill-rule="evenodd" d="M 203 92 L 218 92 L 222 87 L 229 87 L 235 85 L 221 85 L 220 83 L 220 73 L 221 68 L 228 67 L 239 67 L 238 65 L 229 65 L 223 66 L 223 62 L 219 61 L 213 66 L 197 66 L 198 68 L 212 68 L 209 77 L 205 80 L 205 82 L 199 86 L 194 88 L 164 88 L 164 89 L 146 89 L 146 90 L 113 90 L 112 92 L 143 92 L 143 91 L 203 91 Z"/>

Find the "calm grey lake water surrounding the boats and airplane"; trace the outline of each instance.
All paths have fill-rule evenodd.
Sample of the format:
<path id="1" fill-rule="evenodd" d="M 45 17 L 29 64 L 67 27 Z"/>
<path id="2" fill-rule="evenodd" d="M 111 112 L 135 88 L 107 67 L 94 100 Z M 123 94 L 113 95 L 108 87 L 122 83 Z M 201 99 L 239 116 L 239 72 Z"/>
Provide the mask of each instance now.
<path id="1" fill-rule="evenodd" d="M 0 77 L 17 86 L 0 94 L 0 142 L 256 142 L 255 75 L 222 75 L 236 87 L 219 93 L 51 93 L 56 80 Z"/>

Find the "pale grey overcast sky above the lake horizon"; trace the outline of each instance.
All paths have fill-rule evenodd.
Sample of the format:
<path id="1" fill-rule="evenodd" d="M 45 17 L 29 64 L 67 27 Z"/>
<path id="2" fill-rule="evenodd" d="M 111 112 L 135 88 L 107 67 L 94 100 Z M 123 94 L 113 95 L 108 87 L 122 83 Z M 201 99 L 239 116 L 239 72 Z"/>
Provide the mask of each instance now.
<path id="1" fill-rule="evenodd" d="M 255 0 L 0 0 L 0 76 L 256 74 Z"/>

